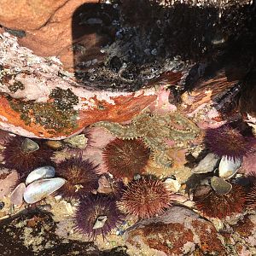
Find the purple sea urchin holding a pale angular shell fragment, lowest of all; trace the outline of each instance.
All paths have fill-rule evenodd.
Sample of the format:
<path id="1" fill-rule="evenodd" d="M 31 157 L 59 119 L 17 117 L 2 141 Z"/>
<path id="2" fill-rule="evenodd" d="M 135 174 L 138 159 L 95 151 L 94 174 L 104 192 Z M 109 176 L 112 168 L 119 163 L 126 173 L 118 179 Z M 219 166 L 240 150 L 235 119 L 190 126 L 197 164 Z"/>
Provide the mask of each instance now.
<path id="1" fill-rule="evenodd" d="M 98 194 L 81 198 L 75 220 L 82 234 L 95 239 L 101 234 L 105 237 L 123 217 L 113 197 Z"/>

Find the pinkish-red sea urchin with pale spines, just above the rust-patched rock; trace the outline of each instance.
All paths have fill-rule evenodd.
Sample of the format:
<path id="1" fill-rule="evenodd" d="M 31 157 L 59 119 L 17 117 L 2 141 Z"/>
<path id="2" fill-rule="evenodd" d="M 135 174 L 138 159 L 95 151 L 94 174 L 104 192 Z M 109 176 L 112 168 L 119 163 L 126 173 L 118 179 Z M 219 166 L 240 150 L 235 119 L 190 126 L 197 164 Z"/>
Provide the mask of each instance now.
<path id="1" fill-rule="evenodd" d="M 138 218 L 150 218 L 171 205 L 172 193 L 158 179 L 142 177 L 128 184 L 118 202 L 121 211 Z"/>

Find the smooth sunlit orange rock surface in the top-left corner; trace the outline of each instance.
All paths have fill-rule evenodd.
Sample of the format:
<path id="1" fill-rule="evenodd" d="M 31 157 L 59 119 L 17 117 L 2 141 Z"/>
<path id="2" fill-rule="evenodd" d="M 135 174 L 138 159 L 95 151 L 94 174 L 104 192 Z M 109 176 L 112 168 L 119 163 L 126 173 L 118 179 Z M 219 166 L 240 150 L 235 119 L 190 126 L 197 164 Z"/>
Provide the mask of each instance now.
<path id="1" fill-rule="evenodd" d="M 38 55 L 61 55 L 73 62 L 72 16 L 83 3 L 96 0 L 58 0 L 31 2 L 2 1 L 0 24 L 15 30 L 26 31 L 20 42 L 35 50 Z M 69 55 L 69 57 L 67 57 Z"/>

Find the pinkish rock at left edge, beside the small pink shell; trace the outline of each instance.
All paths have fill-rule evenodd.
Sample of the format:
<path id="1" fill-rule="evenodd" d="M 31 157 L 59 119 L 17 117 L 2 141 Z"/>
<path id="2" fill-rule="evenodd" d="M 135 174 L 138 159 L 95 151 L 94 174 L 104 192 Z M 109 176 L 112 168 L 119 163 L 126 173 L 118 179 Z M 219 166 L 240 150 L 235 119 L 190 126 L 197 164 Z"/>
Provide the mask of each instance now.
<path id="1" fill-rule="evenodd" d="M 18 173 L 16 171 L 9 171 L 8 169 L 0 169 L 0 199 L 4 195 L 9 195 L 18 181 Z"/>

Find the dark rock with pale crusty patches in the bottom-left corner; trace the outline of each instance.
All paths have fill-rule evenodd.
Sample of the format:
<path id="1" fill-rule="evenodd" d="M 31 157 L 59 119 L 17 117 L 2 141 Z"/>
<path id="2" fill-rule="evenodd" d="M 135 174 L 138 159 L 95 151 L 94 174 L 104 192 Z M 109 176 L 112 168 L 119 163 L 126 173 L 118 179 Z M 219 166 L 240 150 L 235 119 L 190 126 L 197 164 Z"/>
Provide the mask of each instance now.
<path id="1" fill-rule="evenodd" d="M 100 251 L 93 242 L 64 240 L 55 235 L 56 224 L 47 212 L 23 212 L 0 223 L 2 255 L 128 255 L 125 247 Z"/>

